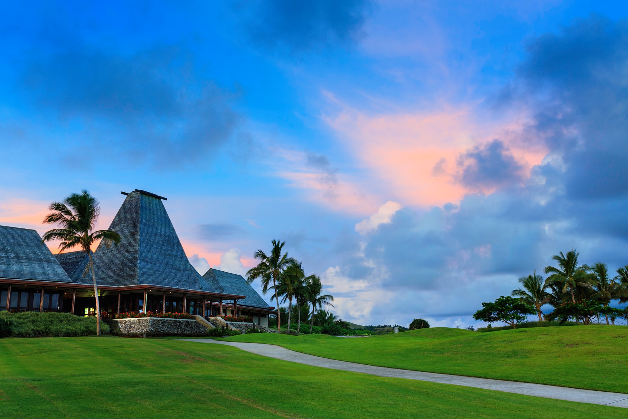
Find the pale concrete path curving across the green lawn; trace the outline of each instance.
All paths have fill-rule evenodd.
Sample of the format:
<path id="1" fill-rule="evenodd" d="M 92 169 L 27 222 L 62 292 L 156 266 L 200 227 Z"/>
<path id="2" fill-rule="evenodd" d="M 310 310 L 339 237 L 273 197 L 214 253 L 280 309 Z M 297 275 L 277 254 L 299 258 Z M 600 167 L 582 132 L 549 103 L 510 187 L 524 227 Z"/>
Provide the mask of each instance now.
<path id="1" fill-rule="evenodd" d="M 538 396 L 550 399 L 580 401 L 595 405 L 607 405 L 628 408 L 628 395 L 624 393 L 609 393 L 607 391 L 582 390 L 577 388 L 547 386 L 545 384 L 517 383 L 516 381 L 503 381 L 499 379 L 475 378 L 455 376 L 450 374 L 422 373 L 408 369 L 396 369 L 387 367 L 375 367 L 355 362 L 337 361 L 301 352 L 290 351 L 281 346 L 267 344 L 252 344 L 246 342 L 220 342 L 214 339 L 181 339 L 190 342 L 203 342 L 234 346 L 243 351 L 268 356 L 284 361 L 298 362 L 311 366 L 342 369 L 355 373 L 372 374 L 381 377 L 408 378 L 432 383 L 456 384 L 458 386 L 485 388 L 489 390 L 517 393 L 519 395 Z"/>

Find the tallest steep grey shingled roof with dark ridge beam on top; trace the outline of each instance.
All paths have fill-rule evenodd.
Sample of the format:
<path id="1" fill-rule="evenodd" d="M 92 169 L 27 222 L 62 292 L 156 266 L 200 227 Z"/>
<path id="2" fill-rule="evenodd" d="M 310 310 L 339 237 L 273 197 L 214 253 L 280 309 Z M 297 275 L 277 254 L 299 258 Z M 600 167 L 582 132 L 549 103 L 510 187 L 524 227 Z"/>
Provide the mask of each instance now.
<path id="1" fill-rule="evenodd" d="M 116 246 L 100 242 L 94 271 L 102 285 L 156 285 L 215 291 L 188 261 L 161 197 L 135 190 L 127 195 L 109 229 Z"/>

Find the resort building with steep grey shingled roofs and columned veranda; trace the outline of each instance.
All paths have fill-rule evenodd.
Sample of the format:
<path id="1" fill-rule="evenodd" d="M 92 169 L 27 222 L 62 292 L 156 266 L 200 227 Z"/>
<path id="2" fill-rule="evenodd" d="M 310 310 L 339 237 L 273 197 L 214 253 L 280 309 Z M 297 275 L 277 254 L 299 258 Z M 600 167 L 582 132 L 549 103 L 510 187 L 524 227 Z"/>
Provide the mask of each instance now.
<path id="1" fill-rule="evenodd" d="M 241 275 L 188 261 L 163 197 L 143 190 L 126 199 L 109 229 L 120 243 L 100 242 L 92 253 L 100 311 L 187 312 L 205 318 L 251 316 L 268 325 L 274 307 Z M 0 226 L 0 310 L 95 315 L 94 282 L 83 251 L 53 255 L 35 230 Z"/>

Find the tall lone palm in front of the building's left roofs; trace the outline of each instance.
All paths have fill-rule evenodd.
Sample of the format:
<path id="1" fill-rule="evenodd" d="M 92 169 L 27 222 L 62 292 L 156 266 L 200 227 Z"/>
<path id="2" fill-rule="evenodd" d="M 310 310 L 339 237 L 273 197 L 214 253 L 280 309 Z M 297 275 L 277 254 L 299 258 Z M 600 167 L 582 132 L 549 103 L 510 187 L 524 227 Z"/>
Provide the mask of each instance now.
<path id="1" fill-rule="evenodd" d="M 80 246 L 82 251 L 89 256 L 96 299 L 96 334 L 100 335 L 100 304 L 91 249 L 92 245 L 99 240 L 105 240 L 109 246 L 111 242 L 114 242 L 117 246 L 120 242 L 120 235 L 111 230 L 94 231 L 94 224 L 100 215 L 100 204 L 87 190 L 83 190 L 80 195 L 72 193 L 63 202 L 53 202 L 48 209 L 52 212 L 46 215 L 42 224 L 60 224 L 62 228 L 46 231 L 42 241 L 60 240 L 60 252 Z"/>

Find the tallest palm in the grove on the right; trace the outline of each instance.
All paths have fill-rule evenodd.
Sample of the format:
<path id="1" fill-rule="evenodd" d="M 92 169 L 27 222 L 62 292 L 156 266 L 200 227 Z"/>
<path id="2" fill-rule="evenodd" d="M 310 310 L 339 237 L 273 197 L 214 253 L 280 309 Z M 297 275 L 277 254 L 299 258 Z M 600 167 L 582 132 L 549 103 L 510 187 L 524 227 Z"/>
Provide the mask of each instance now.
<path id="1" fill-rule="evenodd" d="M 545 273 L 551 275 L 545 280 L 546 285 L 554 285 L 560 287 L 562 293 L 571 293 L 571 302 L 576 302 L 575 291 L 578 287 L 591 288 L 591 284 L 595 282 L 592 274 L 589 273 L 591 268 L 586 264 L 578 264 L 578 254 L 571 249 L 567 254 L 555 254 L 552 259 L 558 262 L 558 268 L 554 266 L 546 266 Z"/>

